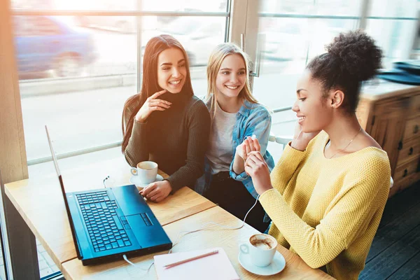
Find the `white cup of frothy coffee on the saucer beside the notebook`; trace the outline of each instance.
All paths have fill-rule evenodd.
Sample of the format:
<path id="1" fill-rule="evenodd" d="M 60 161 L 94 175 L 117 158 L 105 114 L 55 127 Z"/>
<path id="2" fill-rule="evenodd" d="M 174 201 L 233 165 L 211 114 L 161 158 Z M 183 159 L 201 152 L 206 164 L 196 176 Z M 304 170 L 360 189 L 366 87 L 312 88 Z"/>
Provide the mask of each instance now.
<path id="1" fill-rule="evenodd" d="M 249 237 L 246 243 L 240 244 L 239 250 L 250 255 L 253 265 L 266 267 L 272 262 L 276 247 L 277 240 L 274 237 L 258 233 Z"/>

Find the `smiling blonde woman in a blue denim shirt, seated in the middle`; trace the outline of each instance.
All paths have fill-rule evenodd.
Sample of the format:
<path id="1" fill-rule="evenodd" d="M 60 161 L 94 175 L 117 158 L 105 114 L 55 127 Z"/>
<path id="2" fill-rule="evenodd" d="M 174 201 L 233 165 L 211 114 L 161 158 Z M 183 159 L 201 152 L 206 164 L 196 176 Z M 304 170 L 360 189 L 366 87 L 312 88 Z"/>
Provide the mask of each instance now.
<path id="1" fill-rule="evenodd" d="M 209 200 L 240 219 L 244 219 L 257 197 L 251 178 L 244 172 L 247 153 L 259 151 L 274 167 L 272 156 L 266 151 L 271 116 L 251 94 L 248 73 L 248 58 L 237 45 L 223 43 L 211 53 L 206 97 L 211 132 L 205 182 L 201 181 L 198 188 Z M 258 146 L 249 141 L 251 137 L 259 140 Z M 262 232 L 267 229 L 269 219 L 259 202 L 246 223 Z"/>

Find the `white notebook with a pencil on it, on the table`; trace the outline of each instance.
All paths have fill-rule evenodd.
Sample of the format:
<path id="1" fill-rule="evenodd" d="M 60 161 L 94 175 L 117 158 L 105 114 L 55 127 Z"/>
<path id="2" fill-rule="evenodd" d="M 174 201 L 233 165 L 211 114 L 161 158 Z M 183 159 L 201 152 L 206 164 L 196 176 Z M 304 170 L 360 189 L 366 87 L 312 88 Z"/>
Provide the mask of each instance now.
<path id="1" fill-rule="evenodd" d="M 218 253 L 214 255 L 185 262 L 171 268 L 164 267 L 165 265 L 169 265 L 180 260 L 186 260 L 188 258 L 193 258 L 197 255 L 202 255 L 216 250 Z M 232 263 L 230 263 L 228 255 L 226 255 L 223 248 L 210 248 L 206 250 L 155 255 L 154 258 L 156 274 L 158 274 L 159 280 L 239 280 L 239 276 L 233 268 Z"/>

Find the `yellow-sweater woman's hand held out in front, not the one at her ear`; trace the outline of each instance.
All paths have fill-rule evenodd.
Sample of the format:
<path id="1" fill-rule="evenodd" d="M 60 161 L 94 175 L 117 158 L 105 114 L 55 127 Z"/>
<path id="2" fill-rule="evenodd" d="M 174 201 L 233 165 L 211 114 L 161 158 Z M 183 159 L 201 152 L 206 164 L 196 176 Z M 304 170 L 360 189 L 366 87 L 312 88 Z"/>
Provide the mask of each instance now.
<path id="1" fill-rule="evenodd" d="M 248 158 L 245 162 L 245 172 L 251 176 L 253 186 L 259 195 L 273 188 L 269 178 L 267 162 L 262 158 L 260 152 L 253 151 L 248 153 Z"/>

